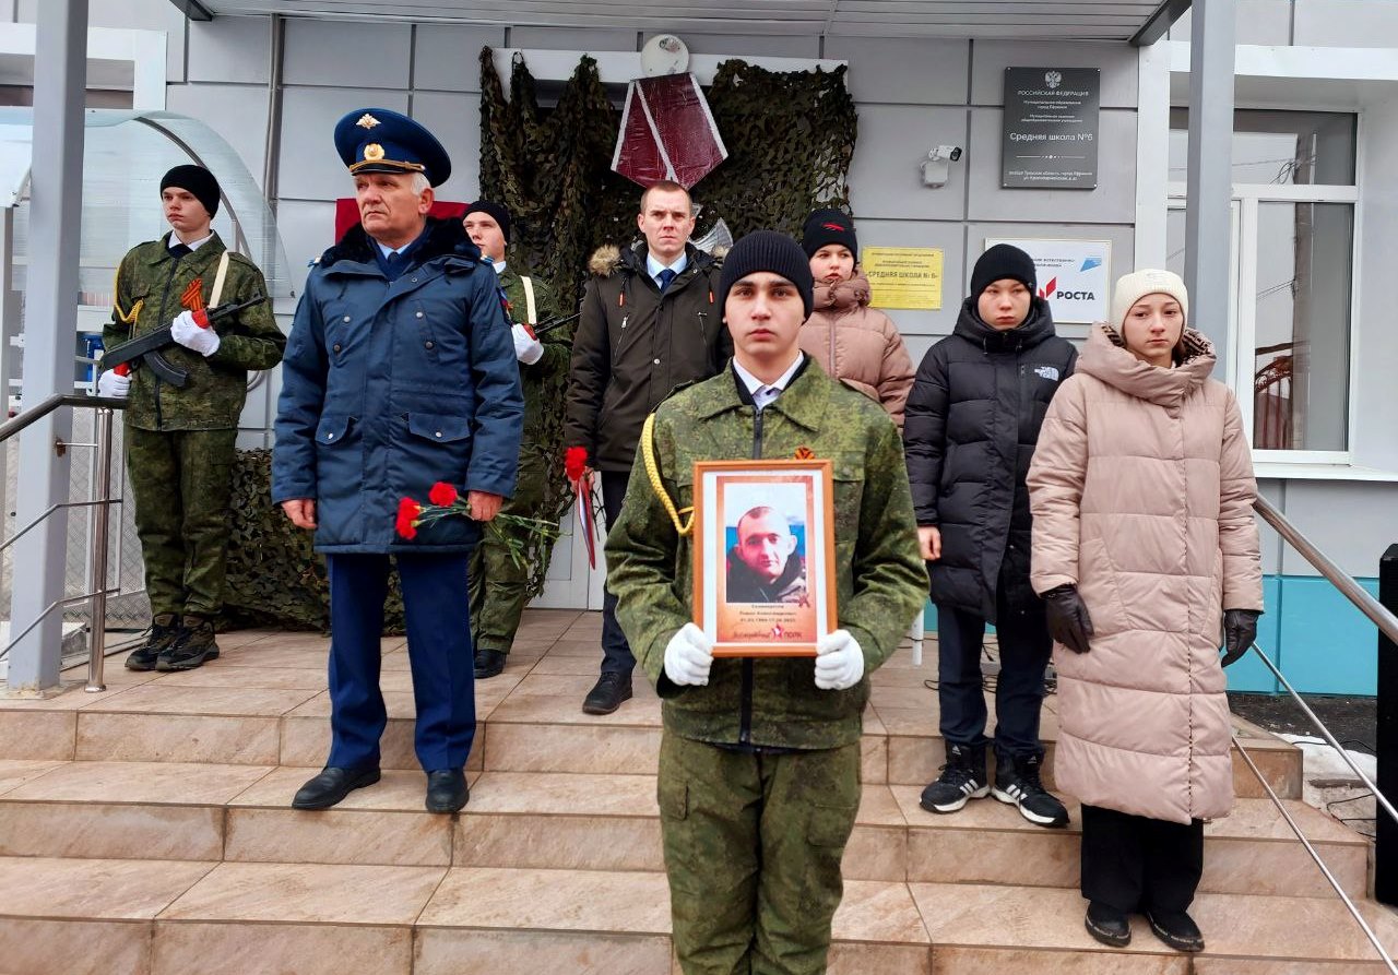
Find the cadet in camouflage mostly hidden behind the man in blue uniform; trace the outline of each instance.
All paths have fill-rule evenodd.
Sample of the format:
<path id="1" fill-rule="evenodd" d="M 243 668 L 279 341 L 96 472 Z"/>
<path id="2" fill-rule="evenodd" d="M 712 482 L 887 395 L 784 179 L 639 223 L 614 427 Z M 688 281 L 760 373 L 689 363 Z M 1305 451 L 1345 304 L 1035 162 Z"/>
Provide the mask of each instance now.
<path id="1" fill-rule="evenodd" d="M 500 507 L 502 513 L 526 518 L 552 521 L 556 504 L 552 494 L 565 486 L 561 478 L 563 453 L 563 390 L 568 384 L 568 365 L 572 358 L 572 324 L 552 328 L 535 338 L 530 328 L 561 314 L 552 289 L 540 278 L 520 275 L 505 260 L 509 246 L 510 211 L 498 203 L 478 200 L 461 217 L 467 236 L 481 253 L 495 264 L 499 275 L 505 314 L 513 325 L 514 358 L 520 365 L 520 386 L 524 390 L 524 440 L 520 443 L 520 467 L 514 482 L 514 496 Z M 528 282 L 528 286 L 526 286 Z M 554 490 L 551 490 L 551 488 Z M 530 539 L 516 535 L 517 552 L 493 532 L 485 532 L 471 553 L 467 573 L 471 594 L 471 643 L 475 647 L 475 677 L 493 677 L 505 669 L 505 658 L 514 643 L 524 603 L 528 602 L 530 577 L 534 567 L 523 557 Z M 549 548 L 538 557 L 547 569 Z M 542 570 L 540 570 L 542 574 Z"/>

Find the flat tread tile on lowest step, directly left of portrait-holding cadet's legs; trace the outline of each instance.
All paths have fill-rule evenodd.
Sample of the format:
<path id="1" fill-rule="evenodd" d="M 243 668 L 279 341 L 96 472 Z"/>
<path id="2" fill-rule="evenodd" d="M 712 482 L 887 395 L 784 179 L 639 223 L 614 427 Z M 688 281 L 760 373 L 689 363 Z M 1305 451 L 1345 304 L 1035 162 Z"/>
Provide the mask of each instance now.
<path id="1" fill-rule="evenodd" d="M 452 867 L 419 926 L 670 932 L 661 873 Z"/>

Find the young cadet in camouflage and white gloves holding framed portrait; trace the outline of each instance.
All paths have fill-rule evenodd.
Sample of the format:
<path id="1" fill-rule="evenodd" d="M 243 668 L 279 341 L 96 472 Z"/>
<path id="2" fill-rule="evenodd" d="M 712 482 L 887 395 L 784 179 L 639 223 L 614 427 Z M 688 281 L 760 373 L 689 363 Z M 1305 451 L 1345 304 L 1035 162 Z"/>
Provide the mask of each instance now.
<path id="1" fill-rule="evenodd" d="M 811 311 L 801 249 L 770 230 L 748 235 L 724 261 L 719 298 L 733 365 L 656 411 L 656 475 L 643 443 L 607 539 L 607 581 L 663 698 L 657 789 L 685 975 L 815 975 L 860 803 L 865 675 L 907 631 L 927 574 L 893 422 L 797 345 Z M 691 539 L 660 492 L 682 510 L 695 461 L 795 455 L 835 467 L 839 629 L 814 661 L 716 661 L 689 622 Z"/>

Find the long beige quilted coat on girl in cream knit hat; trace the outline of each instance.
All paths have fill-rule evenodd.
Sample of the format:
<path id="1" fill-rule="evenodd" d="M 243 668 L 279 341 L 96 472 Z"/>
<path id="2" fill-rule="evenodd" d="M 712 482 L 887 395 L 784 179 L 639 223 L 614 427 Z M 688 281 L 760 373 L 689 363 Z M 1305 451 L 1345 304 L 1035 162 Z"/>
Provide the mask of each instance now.
<path id="1" fill-rule="evenodd" d="M 1076 584 L 1090 651 L 1054 648 L 1057 784 L 1172 823 L 1233 806 L 1223 609 L 1262 609 L 1257 483 L 1213 348 L 1138 362 L 1099 324 L 1058 390 L 1029 467 L 1036 592 Z"/>

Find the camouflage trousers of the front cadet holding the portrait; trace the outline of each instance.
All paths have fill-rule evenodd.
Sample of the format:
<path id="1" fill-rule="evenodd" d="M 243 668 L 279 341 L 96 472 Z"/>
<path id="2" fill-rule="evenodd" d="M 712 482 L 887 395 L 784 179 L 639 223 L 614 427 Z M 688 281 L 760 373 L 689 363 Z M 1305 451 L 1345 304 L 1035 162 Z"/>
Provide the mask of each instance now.
<path id="1" fill-rule="evenodd" d="M 660 742 L 660 828 L 685 975 L 819 975 L 860 805 L 860 746 Z"/>

